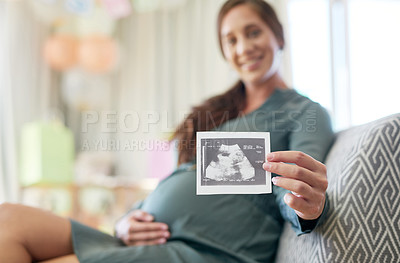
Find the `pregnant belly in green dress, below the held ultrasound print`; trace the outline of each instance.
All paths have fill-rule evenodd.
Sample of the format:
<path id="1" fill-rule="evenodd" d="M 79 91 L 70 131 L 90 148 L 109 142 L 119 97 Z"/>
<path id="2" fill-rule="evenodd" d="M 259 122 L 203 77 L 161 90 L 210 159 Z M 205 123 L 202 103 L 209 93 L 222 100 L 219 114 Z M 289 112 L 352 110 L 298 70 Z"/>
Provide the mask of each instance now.
<path id="1" fill-rule="evenodd" d="M 273 196 L 270 197 L 273 200 Z M 197 196 L 195 171 L 186 171 L 161 182 L 142 209 L 154 215 L 156 221 L 169 225 L 170 240 L 191 241 L 208 248 L 224 247 L 264 257 L 276 249 L 281 226 L 267 215 L 274 209 L 266 213 L 256 205 L 254 198 L 261 197 Z"/>

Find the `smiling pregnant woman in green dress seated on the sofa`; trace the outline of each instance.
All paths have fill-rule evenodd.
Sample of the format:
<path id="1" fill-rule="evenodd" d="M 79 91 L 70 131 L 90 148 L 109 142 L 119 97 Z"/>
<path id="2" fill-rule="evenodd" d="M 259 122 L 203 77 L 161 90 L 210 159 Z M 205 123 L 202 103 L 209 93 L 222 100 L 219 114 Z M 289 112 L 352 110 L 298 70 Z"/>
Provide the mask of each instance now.
<path id="1" fill-rule="evenodd" d="M 266 2 L 227 1 L 218 36 L 238 82 L 183 120 L 174 135 L 178 169 L 119 220 L 116 236 L 2 204 L 0 262 L 273 262 L 285 220 L 299 235 L 315 228 L 328 205 L 321 163 L 333 139 L 328 114 L 281 78 L 284 34 Z M 206 130 L 270 132 L 272 153 L 263 168 L 277 175 L 273 194 L 197 196 L 190 146 Z"/>

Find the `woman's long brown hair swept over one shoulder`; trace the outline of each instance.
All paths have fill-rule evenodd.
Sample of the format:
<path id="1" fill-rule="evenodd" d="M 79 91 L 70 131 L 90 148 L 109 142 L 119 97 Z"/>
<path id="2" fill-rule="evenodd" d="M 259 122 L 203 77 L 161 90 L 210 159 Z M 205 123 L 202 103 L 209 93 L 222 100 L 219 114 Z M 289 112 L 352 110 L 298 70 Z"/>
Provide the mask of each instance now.
<path id="1" fill-rule="evenodd" d="M 234 7 L 249 5 L 271 28 L 275 37 L 284 46 L 284 34 L 274 9 L 263 0 L 228 0 L 221 7 L 217 20 L 217 33 L 222 55 L 221 25 L 225 15 Z M 240 80 L 225 93 L 212 97 L 201 105 L 193 107 L 191 113 L 177 127 L 173 139 L 178 141 L 178 164 L 190 162 L 196 156 L 196 132 L 209 131 L 228 120 L 235 119 L 246 106 L 246 92 Z"/>

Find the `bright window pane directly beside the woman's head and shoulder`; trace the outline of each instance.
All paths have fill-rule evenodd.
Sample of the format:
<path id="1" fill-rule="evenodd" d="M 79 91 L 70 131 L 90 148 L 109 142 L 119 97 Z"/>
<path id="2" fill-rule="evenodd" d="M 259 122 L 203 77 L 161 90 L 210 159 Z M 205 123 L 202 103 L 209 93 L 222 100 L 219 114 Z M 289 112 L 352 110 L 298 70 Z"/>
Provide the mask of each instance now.
<path id="1" fill-rule="evenodd" d="M 332 111 L 329 2 L 291 1 L 288 17 L 294 88 Z"/>

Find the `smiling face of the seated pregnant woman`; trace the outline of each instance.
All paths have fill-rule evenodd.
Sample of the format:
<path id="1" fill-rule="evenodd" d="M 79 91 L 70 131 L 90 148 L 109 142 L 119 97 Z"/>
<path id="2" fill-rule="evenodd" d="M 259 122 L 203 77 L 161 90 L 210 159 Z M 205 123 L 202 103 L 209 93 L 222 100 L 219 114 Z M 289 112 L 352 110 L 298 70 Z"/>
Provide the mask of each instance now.
<path id="1" fill-rule="evenodd" d="M 224 56 L 246 85 L 258 86 L 277 74 L 280 44 L 270 27 L 246 4 L 222 19 Z"/>

